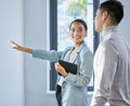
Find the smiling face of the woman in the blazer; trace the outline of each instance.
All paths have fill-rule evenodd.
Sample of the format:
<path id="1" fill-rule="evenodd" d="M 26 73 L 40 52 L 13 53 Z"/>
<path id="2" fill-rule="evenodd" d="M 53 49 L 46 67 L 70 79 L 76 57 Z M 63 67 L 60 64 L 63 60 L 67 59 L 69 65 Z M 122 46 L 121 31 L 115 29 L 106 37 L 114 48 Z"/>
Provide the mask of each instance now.
<path id="1" fill-rule="evenodd" d="M 83 41 L 86 35 L 87 35 L 87 30 L 81 23 L 75 22 L 72 24 L 70 37 L 75 42 L 75 44 L 80 44 Z"/>

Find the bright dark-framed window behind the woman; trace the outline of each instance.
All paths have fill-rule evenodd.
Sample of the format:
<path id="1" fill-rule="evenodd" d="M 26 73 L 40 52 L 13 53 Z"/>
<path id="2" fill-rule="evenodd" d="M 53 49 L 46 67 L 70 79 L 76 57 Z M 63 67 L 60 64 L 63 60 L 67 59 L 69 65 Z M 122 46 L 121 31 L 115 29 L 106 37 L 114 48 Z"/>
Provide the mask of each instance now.
<path id="1" fill-rule="evenodd" d="M 92 53 L 94 53 L 99 37 L 93 30 L 93 13 L 99 0 L 50 0 L 50 50 L 64 50 L 72 44 L 69 32 L 69 24 L 75 18 L 82 18 L 88 25 L 88 35 L 86 42 Z M 93 36 L 94 35 L 94 36 Z M 93 39 L 94 38 L 94 39 Z M 56 72 L 54 64 L 51 63 L 50 85 L 49 91 L 55 90 Z M 93 76 L 94 78 L 94 76 Z M 89 91 L 93 91 L 93 78 L 88 87 Z"/>

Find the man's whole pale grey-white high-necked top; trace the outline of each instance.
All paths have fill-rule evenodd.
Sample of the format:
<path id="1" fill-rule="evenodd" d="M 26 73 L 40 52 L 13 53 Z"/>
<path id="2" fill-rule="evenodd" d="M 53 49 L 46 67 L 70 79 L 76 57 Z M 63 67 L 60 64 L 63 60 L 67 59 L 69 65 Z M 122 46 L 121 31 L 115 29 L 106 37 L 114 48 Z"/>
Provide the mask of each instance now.
<path id="1" fill-rule="evenodd" d="M 107 27 L 102 36 L 93 63 L 95 87 L 91 106 L 130 106 L 130 45 L 117 26 Z"/>

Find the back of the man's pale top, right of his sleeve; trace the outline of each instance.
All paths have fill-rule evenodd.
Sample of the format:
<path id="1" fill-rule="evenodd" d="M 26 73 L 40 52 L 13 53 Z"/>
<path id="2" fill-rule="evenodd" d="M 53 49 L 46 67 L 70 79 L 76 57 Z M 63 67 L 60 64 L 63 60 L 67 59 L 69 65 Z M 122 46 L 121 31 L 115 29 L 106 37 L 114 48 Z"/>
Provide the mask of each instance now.
<path id="1" fill-rule="evenodd" d="M 127 41 L 117 32 L 114 32 L 110 38 L 114 48 L 117 51 L 118 61 L 116 74 L 112 84 L 108 103 L 112 106 L 130 105 L 130 47 Z M 128 105 L 129 104 L 129 105 Z"/>

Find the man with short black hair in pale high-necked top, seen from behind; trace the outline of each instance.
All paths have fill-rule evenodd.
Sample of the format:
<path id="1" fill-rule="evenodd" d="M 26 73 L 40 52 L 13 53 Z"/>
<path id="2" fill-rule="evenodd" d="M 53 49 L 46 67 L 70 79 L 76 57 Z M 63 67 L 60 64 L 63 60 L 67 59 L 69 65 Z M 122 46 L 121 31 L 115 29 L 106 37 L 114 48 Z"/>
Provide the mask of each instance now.
<path id="1" fill-rule="evenodd" d="M 99 6 L 95 30 L 103 41 L 94 55 L 95 88 L 91 106 L 130 106 L 130 47 L 118 34 L 123 6 L 108 0 Z"/>

